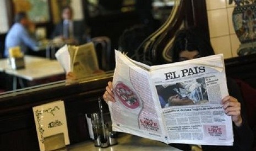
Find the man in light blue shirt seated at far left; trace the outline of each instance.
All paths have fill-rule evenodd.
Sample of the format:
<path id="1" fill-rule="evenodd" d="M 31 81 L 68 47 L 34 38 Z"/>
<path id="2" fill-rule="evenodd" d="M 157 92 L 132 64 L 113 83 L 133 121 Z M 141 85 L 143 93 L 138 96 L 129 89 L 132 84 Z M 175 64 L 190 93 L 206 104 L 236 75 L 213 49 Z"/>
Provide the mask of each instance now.
<path id="1" fill-rule="evenodd" d="M 9 48 L 19 46 L 25 54 L 28 47 L 34 51 L 39 50 L 36 39 L 30 34 L 29 30 L 35 31 L 35 26 L 30 22 L 24 12 L 15 16 L 15 24 L 10 28 L 6 36 L 4 57 L 9 56 Z"/>

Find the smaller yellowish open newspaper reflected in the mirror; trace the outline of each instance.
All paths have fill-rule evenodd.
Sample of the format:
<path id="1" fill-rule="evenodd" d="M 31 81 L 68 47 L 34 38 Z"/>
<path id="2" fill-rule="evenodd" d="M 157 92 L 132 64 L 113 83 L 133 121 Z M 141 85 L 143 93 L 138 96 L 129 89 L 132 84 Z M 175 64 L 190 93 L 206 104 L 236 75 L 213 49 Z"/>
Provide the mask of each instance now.
<path id="1" fill-rule="evenodd" d="M 99 70 L 92 42 L 79 46 L 66 44 L 57 51 L 55 56 L 66 73 L 74 72 L 77 78 L 87 77 Z"/>

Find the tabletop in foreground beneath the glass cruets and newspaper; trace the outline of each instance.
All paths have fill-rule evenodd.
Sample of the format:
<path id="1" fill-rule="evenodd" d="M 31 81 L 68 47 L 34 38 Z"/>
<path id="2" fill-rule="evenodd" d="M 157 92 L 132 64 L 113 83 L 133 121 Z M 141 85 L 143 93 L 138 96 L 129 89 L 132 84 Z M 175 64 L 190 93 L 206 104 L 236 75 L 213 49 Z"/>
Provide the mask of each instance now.
<path id="1" fill-rule="evenodd" d="M 95 147 L 94 142 L 92 141 L 85 141 L 79 144 L 75 144 L 72 146 L 68 146 L 69 151 L 80 151 L 80 150 L 99 150 L 99 151 L 178 151 L 179 149 L 168 146 L 165 143 L 159 142 L 159 141 L 154 141 L 154 140 L 149 140 L 148 138 L 143 138 L 135 135 L 130 135 L 127 133 L 119 133 L 118 134 L 118 144 L 115 146 L 109 146 L 107 148 L 100 148 L 100 147 Z"/>

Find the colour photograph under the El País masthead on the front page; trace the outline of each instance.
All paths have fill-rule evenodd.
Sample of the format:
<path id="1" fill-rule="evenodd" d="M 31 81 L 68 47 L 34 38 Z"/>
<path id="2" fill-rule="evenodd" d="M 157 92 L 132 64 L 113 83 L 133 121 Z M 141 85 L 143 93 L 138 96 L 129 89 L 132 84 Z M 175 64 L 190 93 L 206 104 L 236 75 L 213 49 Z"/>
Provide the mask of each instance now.
<path id="1" fill-rule="evenodd" d="M 156 90 L 162 108 L 209 103 L 204 77 L 170 85 L 156 85 Z"/>

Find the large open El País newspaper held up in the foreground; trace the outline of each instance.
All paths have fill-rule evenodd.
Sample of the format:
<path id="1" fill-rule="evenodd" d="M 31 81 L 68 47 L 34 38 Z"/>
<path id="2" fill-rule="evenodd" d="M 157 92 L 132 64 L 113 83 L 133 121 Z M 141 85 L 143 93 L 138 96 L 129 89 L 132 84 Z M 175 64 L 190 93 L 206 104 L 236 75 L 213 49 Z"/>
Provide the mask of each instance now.
<path id="1" fill-rule="evenodd" d="M 116 50 L 113 131 L 165 143 L 231 146 L 223 55 L 147 66 Z"/>

